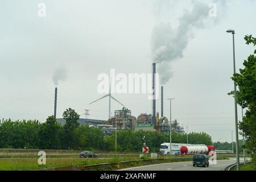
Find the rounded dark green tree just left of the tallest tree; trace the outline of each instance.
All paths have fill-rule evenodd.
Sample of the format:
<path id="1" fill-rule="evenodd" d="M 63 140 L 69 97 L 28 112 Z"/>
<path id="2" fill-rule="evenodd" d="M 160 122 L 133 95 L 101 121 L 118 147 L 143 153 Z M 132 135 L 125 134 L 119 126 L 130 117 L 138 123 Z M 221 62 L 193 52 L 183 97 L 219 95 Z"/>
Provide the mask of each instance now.
<path id="1" fill-rule="evenodd" d="M 52 115 L 46 119 L 39 130 L 40 148 L 57 149 L 60 147 L 61 126 Z"/>

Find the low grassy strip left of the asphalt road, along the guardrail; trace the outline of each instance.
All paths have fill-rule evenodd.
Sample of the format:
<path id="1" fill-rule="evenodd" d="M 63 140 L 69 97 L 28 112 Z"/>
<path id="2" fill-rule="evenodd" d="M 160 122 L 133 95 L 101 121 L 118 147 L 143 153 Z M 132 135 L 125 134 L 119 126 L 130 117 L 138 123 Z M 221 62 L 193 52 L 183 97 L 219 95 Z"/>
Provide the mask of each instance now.
<path id="1" fill-rule="evenodd" d="M 168 158 L 172 158 L 172 160 Z M 176 159 L 176 158 L 184 158 L 184 159 Z M 149 159 L 150 158 L 146 158 L 146 162 L 145 162 L 145 161 L 141 161 L 142 159 L 139 157 L 123 158 L 118 155 L 114 156 L 113 158 L 99 158 L 99 159 L 88 159 L 88 158 L 80 159 L 78 157 L 77 158 L 47 158 L 46 165 L 39 165 L 38 158 L 8 158 L 8 159 L 4 158 L 4 159 L 0 159 L 0 171 L 4 171 L 4 170 L 28 171 L 28 170 L 39 170 L 39 169 L 67 167 L 67 166 L 77 166 L 83 169 L 84 166 L 90 166 L 93 164 L 103 164 L 103 163 L 112 163 L 110 167 L 104 168 L 104 170 L 112 170 L 112 169 L 121 169 L 126 167 L 144 166 L 148 164 L 192 161 L 192 156 L 171 156 L 171 157 L 165 156 L 165 157 L 158 158 L 162 160 L 149 160 Z M 217 160 L 225 160 L 225 159 L 229 159 L 229 158 L 227 156 L 217 157 Z M 133 161 L 133 162 L 129 164 L 120 163 L 120 162 L 128 162 L 128 161 Z M 96 169 L 96 170 L 100 170 L 100 169 Z"/>

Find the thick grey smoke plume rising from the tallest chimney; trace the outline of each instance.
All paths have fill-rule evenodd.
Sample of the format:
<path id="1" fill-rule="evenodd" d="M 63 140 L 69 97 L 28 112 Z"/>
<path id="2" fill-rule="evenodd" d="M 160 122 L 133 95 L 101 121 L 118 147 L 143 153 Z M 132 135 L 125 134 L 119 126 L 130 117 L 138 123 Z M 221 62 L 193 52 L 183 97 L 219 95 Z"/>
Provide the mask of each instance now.
<path id="1" fill-rule="evenodd" d="M 158 25 L 152 31 L 151 48 L 152 60 L 158 64 L 158 72 L 162 85 L 166 84 L 172 77 L 170 63 L 183 57 L 184 49 L 188 46 L 195 32 L 199 29 L 213 26 L 218 22 L 221 14 L 221 7 L 225 7 L 225 1 L 186 1 L 191 3 L 191 10 L 184 10 L 183 13 L 171 23 L 171 9 L 176 8 L 179 3 L 172 0 L 155 1 L 159 15 L 156 12 Z M 213 4 L 214 3 L 214 4 Z M 220 5 L 221 4 L 221 5 Z M 190 5 L 190 4 L 189 4 Z M 216 5 L 216 16 L 210 16 L 211 6 Z M 166 8 L 170 7 L 170 9 Z M 216 12 L 215 12 L 216 13 Z M 162 17 L 160 17 L 162 16 Z M 166 16 L 166 17 L 163 17 Z"/>

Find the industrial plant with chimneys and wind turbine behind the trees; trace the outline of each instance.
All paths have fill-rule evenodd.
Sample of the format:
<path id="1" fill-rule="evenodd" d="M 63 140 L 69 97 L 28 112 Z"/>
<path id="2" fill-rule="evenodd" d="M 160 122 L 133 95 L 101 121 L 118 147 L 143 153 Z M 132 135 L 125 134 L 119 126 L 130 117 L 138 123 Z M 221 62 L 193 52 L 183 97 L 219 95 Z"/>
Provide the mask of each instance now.
<path id="1" fill-rule="evenodd" d="M 109 119 L 97 120 L 97 119 L 79 119 L 80 125 L 88 125 L 89 127 L 100 127 L 106 135 L 112 134 L 115 130 L 131 130 L 131 131 L 158 131 L 162 133 L 170 134 L 170 126 L 171 131 L 175 131 L 179 134 L 184 134 L 183 126 L 179 125 L 179 122 L 175 119 L 174 121 L 169 121 L 167 117 L 163 114 L 163 100 L 164 88 L 161 86 L 161 115 L 156 112 L 156 99 L 155 99 L 155 87 L 156 87 L 156 63 L 152 64 L 152 113 L 146 114 L 142 113 L 138 117 L 135 117 L 131 114 L 131 110 L 127 109 L 121 102 L 116 100 L 109 89 L 109 94 L 100 99 L 94 101 L 97 102 L 105 97 L 109 97 Z M 123 107 L 121 110 L 115 110 L 114 116 L 110 117 L 110 109 L 111 109 L 111 100 L 114 100 L 121 104 Z M 57 107 L 57 88 L 55 89 L 55 106 L 54 106 L 54 115 L 56 117 L 56 107 Z M 91 102 L 90 104 L 93 104 Z M 62 118 L 57 119 L 61 125 L 64 125 L 65 120 Z"/>

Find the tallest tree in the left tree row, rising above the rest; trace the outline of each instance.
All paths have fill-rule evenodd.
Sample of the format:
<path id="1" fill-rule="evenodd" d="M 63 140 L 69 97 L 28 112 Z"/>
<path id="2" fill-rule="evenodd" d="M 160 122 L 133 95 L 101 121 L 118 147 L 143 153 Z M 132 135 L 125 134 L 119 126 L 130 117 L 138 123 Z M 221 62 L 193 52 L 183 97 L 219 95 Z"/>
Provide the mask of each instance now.
<path id="1" fill-rule="evenodd" d="M 63 127 L 62 147 L 66 149 L 79 149 L 79 127 L 80 115 L 75 110 L 69 108 L 64 111 L 63 118 L 65 119 L 65 125 Z"/>

